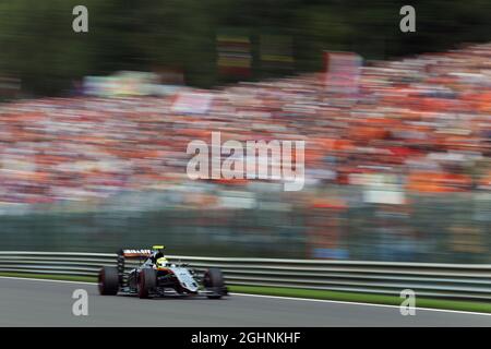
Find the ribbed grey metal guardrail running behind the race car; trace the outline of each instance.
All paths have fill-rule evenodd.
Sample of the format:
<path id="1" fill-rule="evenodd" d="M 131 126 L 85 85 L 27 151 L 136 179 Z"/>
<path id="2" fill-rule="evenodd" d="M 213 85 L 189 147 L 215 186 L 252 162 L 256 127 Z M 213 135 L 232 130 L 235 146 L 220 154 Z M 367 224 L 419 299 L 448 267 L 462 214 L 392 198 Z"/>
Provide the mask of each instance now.
<path id="1" fill-rule="evenodd" d="M 116 266 L 116 253 L 0 251 L 0 273 L 96 276 Z M 227 285 L 294 287 L 332 291 L 491 300 L 491 264 L 229 258 L 167 255 L 199 273 L 223 270 Z M 137 265 L 127 261 L 125 267 Z"/>

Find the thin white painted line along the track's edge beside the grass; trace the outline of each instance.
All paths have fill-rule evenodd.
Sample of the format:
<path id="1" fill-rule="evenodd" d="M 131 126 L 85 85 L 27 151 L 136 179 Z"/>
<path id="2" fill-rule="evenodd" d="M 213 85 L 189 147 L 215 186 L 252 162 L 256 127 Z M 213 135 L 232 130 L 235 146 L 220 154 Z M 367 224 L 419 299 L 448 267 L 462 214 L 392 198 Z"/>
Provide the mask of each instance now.
<path id="1" fill-rule="evenodd" d="M 38 279 L 38 278 L 13 277 L 13 276 L 0 276 L 0 279 L 46 281 L 46 282 L 61 282 L 61 284 L 77 284 L 77 285 L 97 285 L 96 282 L 87 282 L 87 281 L 52 280 L 52 279 Z M 348 302 L 348 301 L 333 301 L 333 300 L 327 300 L 327 299 L 312 299 L 312 298 L 297 298 L 297 297 L 284 297 L 284 296 L 266 296 L 266 294 L 250 294 L 250 293 L 236 293 L 236 292 L 231 292 L 229 294 L 230 296 L 239 296 L 239 297 L 259 297 L 259 298 L 284 299 L 284 300 L 290 300 L 290 301 L 306 301 L 306 302 L 336 303 L 336 304 L 347 304 L 347 305 L 364 305 L 364 306 L 399 309 L 398 305 L 363 303 L 363 302 Z M 429 312 L 457 313 L 457 314 L 468 314 L 468 315 L 491 316 L 491 313 L 467 312 L 467 311 L 459 311 L 459 310 L 419 308 L 419 306 L 416 306 L 416 309 L 419 310 L 419 311 L 429 311 Z"/>

